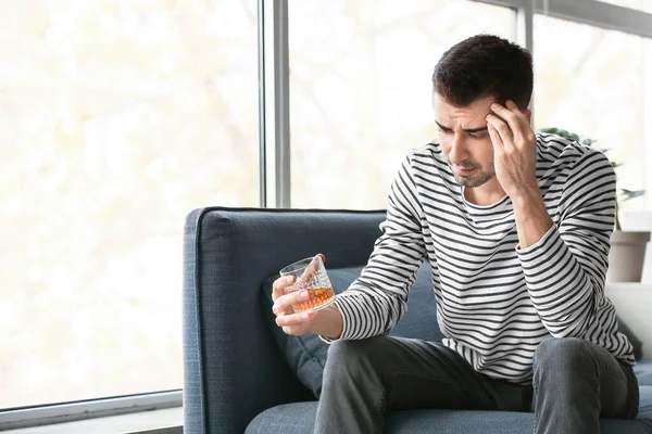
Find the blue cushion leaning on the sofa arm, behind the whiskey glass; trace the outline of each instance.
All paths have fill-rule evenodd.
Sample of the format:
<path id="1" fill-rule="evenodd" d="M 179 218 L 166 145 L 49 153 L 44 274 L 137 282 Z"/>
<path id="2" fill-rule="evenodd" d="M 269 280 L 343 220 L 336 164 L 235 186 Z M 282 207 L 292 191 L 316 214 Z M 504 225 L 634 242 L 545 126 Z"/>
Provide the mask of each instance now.
<path id="1" fill-rule="evenodd" d="M 327 259 L 328 260 L 328 259 Z M 327 265 L 327 264 L 326 264 Z M 360 276 L 361 267 L 328 269 L 328 277 L 337 294 L 344 291 Z M 322 373 L 326 363 L 328 344 L 316 335 L 288 336 L 274 322 L 272 314 L 272 284 L 278 276 L 268 278 L 262 285 L 265 296 L 265 317 L 274 339 L 299 380 L 315 397 L 322 393 Z M 430 278 L 430 267 L 424 264 L 410 291 L 408 310 L 391 331 L 392 335 L 441 342 L 443 337 L 437 324 L 437 307 Z"/>

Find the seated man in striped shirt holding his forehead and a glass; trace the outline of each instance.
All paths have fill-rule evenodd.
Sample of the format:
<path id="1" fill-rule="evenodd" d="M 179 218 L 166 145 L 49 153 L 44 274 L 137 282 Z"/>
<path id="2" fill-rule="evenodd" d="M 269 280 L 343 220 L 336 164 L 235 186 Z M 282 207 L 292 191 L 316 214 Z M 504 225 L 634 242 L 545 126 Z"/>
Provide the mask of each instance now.
<path id="1" fill-rule="evenodd" d="M 532 132 L 531 55 L 514 43 L 457 43 L 432 85 L 439 140 L 403 162 L 360 278 L 312 314 L 292 312 L 291 281 L 274 284 L 278 326 L 333 343 L 315 431 L 377 433 L 412 408 L 534 410 L 550 434 L 634 418 L 632 347 L 604 296 L 610 162 Z M 424 257 L 442 344 L 387 336 Z"/>

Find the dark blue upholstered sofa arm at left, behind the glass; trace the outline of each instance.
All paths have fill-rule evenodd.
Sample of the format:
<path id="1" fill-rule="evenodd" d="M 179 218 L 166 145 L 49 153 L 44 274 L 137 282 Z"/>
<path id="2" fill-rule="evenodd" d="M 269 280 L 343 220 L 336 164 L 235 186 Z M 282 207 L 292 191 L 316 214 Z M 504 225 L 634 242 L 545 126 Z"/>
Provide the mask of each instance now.
<path id="1" fill-rule="evenodd" d="M 311 399 L 269 331 L 261 284 L 324 253 L 329 268 L 366 264 L 385 212 L 202 208 L 184 238 L 186 433 L 242 433 L 259 412 Z"/>

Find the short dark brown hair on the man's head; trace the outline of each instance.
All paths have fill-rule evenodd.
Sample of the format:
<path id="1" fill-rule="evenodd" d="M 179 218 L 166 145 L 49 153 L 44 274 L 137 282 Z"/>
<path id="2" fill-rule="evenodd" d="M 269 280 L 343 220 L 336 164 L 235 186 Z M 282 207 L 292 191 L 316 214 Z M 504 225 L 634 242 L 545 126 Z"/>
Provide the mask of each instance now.
<path id="1" fill-rule="evenodd" d="M 493 35 L 476 35 L 451 47 L 432 73 L 432 90 L 456 106 L 492 95 L 523 110 L 530 102 L 532 81 L 530 52 Z"/>

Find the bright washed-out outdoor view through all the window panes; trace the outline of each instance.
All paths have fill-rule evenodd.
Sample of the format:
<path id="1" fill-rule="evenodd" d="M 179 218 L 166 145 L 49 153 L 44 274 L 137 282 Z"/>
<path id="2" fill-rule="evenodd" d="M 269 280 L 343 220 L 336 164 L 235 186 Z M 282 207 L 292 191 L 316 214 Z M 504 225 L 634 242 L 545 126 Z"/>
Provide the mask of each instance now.
<path id="1" fill-rule="evenodd" d="M 522 41 L 500 1 L 287 3 L 291 207 L 385 208 L 408 150 L 435 137 L 440 55 L 478 33 Z M 652 190 L 652 40 L 537 11 L 535 128 L 597 139 L 619 187 Z M 0 408 L 183 386 L 185 215 L 275 206 L 260 178 L 280 175 L 260 154 L 259 13 L 255 0 L 0 1 Z M 652 194 L 623 207 L 652 212 Z"/>

